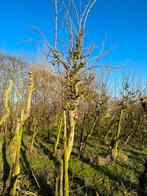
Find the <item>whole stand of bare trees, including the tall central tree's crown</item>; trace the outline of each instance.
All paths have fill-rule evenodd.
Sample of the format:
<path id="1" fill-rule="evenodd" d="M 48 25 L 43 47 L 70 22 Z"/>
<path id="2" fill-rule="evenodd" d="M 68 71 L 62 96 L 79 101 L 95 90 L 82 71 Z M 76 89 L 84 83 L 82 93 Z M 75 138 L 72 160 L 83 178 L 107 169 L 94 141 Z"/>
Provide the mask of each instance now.
<path id="1" fill-rule="evenodd" d="M 86 23 L 96 0 L 87 1 L 83 10 L 82 2 L 79 9 L 74 0 L 63 1 L 65 21 L 64 29 L 60 30 L 67 34 L 63 36 L 62 46 L 62 37 L 59 37 L 58 32 L 61 27 L 59 1 L 55 0 L 54 3 L 54 43 L 47 40 L 39 28 L 34 29 L 41 36 L 41 41 L 35 43 L 44 46 L 43 52 L 48 58 L 48 64 L 56 67 L 55 70 L 58 72 L 43 68 L 43 65 L 28 67 L 27 63 L 16 57 L 0 55 L 1 112 L 5 113 L 1 130 L 11 134 L 10 145 L 13 143 L 14 147 L 10 175 L 3 195 L 8 189 L 11 195 L 16 193 L 23 130 L 33 130 L 30 144 L 32 152 L 38 131 L 45 128 L 49 136 L 50 128 L 55 126 L 58 129 L 53 153 L 59 161 L 55 194 L 60 196 L 69 195 L 68 163 L 75 134 L 79 138 L 80 157 L 83 156 L 89 138 L 95 135 L 103 136 L 114 160 L 117 158 L 121 141 L 129 143 L 139 138 L 138 135 L 142 136 L 145 119 L 138 101 L 141 88 L 136 85 L 132 88 L 132 83 L 125 79 L 122 86 L 119 86 L 120 96 L 114 99 L 106 85 L 96 81 L 93 69 L 101 67 L 99 61 L 107 53 L 104 51 L 103 41 L 99 46 L 95 44 L 85 46 Z M 95 49 L 98 49 L 98 55 L 94 57 Z M 111 66 L 107 68 L 114 69 Z M 28 71 L 30 71 L 29 77 Z M 11 92 L 9 92 L 11 82 L 10 87 L 5 90 L 9 81 L 12 81 Z M 64 148 L 59 155 L 56 151 L 62 130 Z"/>

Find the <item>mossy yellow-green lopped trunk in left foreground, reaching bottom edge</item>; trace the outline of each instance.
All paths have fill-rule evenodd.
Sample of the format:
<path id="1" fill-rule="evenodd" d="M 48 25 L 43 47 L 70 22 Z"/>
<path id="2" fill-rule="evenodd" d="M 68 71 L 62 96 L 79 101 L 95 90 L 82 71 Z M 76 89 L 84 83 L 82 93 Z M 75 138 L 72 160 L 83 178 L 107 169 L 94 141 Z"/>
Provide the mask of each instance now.
<path id="1" fill-rule="evenodd" d="M 28 87 L 28 100 L 27 100 L 26 110 L 21 111 L 21 117 L 17 122 L 15 135 L 12 138 L 12 141 L 10 142 L 11 146 L 13 146 L 14 148 L 14 152 L 12 152 L 13 154 L 11 155 L 12 156 L 11 169 L 2 196 L 6 194 L 12 196 L 16 195 L 17 178 L 20 174 L 19 158 L 20 158 L 20 151 L 21 151 L 22 131 L 23 131 L 24 123 L 26 122 L 26 120 L 30 115 L 32 92 L 34 89 L 34 80 L 33 80 L 32 72 L 29 72 L 29 79 L 30 79 L 30 83 Z"/>

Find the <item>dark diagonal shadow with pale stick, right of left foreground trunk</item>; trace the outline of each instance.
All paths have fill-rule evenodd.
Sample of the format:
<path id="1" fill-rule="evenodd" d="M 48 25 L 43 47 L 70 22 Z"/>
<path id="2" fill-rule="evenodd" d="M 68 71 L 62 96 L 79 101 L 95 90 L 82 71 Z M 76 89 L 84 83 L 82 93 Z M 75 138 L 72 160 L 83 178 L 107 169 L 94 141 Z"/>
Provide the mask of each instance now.
<path id="1" fill-rule="evenodd" d="M 23 141 L 22 141 L 22 146 L 24 147 L 24 150 L 21 150 L 22 159 L 24 161 L 24 164 L 22 165 L 24 167 L 25 173 L 29 176 L 29 180 L 32 186 L 35 187 L 37 186 L 37 189 L 39 190 L 39 195 L 43 195 L 43 196 L 53 195 L 53 190 L 50 187 L 50 185 L 47 184 L 44 176 L 34 174 L 33 169 L 31 168 L 31 165 L 27 159 L 27 155 L 26 155 L 27 148 Z"/>

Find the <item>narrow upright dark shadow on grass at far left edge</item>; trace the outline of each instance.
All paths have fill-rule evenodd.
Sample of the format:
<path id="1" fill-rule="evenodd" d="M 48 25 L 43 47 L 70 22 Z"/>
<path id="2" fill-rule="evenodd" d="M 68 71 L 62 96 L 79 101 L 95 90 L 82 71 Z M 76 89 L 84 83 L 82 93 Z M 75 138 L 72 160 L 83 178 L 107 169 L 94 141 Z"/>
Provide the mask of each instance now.
<path id="1" fill-rule="evenodd" d="M 2 146 L 2 159 L 3 159 L 3 182 L 4 182 L 4 187 L 6 186 L 6 181 L 9 177 L 9 172 L 10 172 L 10 165 L 7 161 L 7 156 L 6 156 L 6 138 L 4 137 L 4 142 Z"/>

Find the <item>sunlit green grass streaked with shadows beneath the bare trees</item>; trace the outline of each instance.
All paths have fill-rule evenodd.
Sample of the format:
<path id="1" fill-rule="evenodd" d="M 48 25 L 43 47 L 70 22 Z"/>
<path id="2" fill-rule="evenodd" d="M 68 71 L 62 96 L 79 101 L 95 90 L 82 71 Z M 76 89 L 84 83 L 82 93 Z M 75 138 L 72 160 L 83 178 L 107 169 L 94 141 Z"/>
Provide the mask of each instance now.
<path id="1" fill-rule="evenodd" d="M 53 157 L 53 146 L 56 139 L 53 128 L 50 138 L 47 131 L 39 131 L 33 148 L 29 154 L 31 132 L 24 132 L 21 150 L 21 175 L 17 188 L 18 195 L 54 195 L 57 160 Z M 6 143 L 9 136 L 5 135 Z M 0 180 L 4 170 L 4 134 L 0 134 Z M 147 157 L 147 147 L 123 146 L 119 159 L 113 162 L 108 148 L 102 138 L 92 137 L 87 143 L 82 159 L 78 158 L 78 143 L 75 143 L 69 163 L 70 195 L 96 195 L 96 191 L 104 196 L 135 196 L 138 189 L 138 176 L 143 171 L 143 163 Z M 62 140 L 58 154 L 63 148 Z M 0 184 L 1 185 L 1 184 Z M 1 185 L 2 187 L 2 185 Z M 2 191 L 2 188 L 0 189 Z"/>

